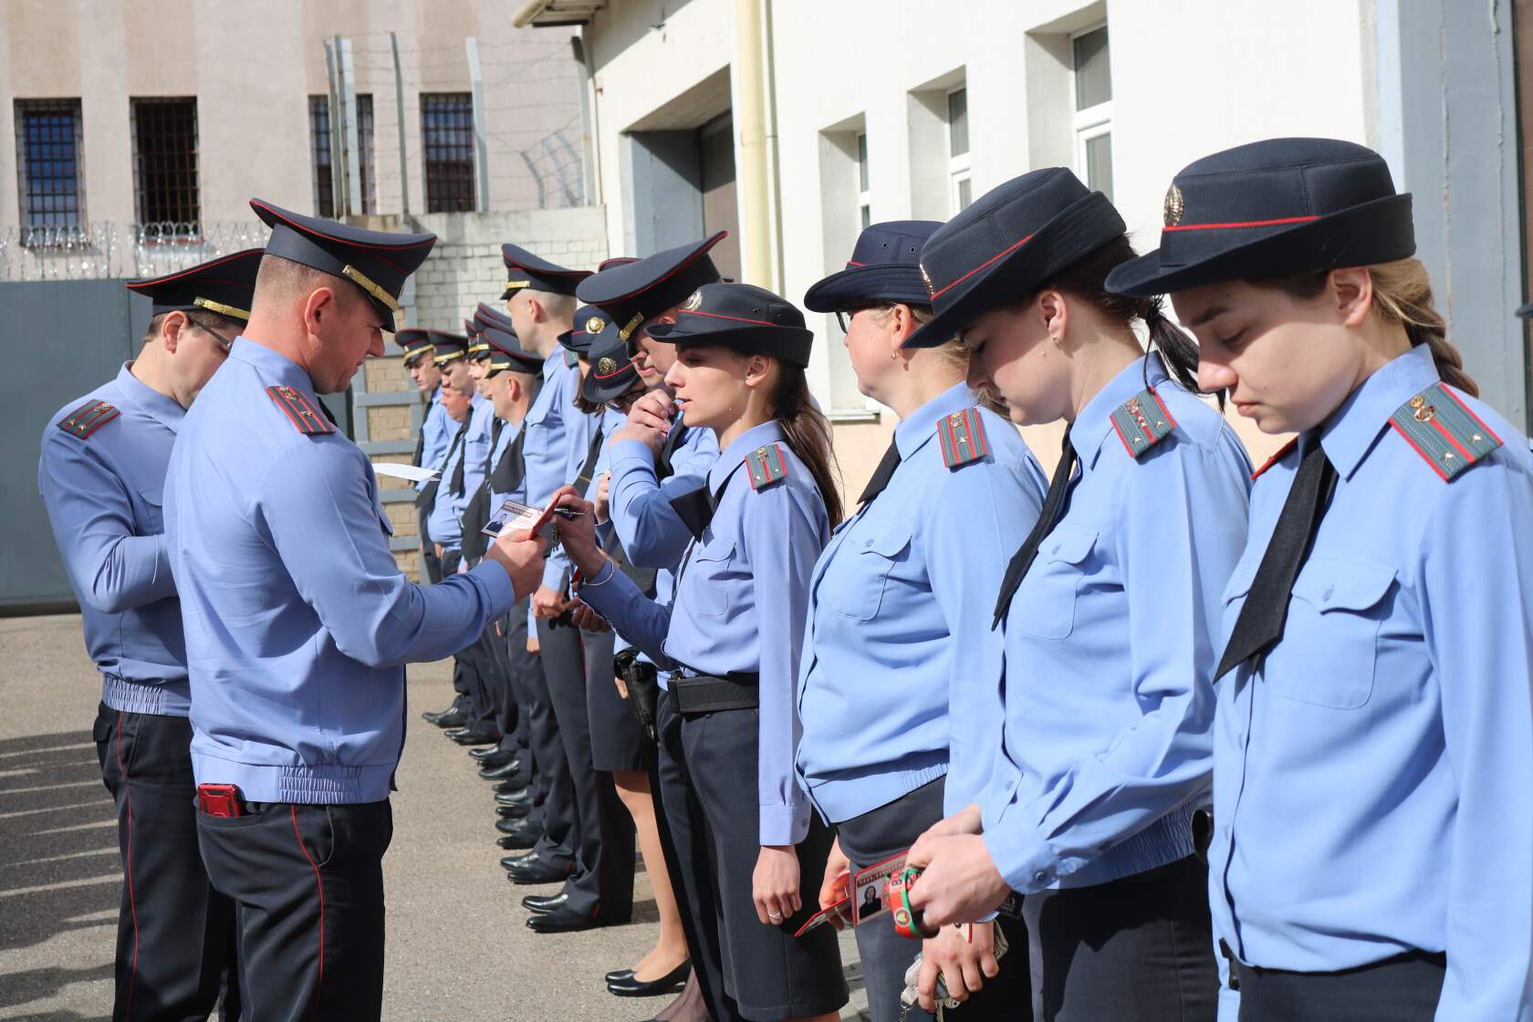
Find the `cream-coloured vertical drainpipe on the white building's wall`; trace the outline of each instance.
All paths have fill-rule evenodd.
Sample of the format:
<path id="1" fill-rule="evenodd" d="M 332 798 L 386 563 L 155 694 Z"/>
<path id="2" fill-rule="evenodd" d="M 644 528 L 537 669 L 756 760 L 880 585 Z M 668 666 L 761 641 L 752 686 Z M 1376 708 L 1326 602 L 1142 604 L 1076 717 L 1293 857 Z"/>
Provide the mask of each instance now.
<path id="1" fill-rule="evenodd" d="M 740 256 L 747 280 L 782 290 L 773 262 L 771 178 L 766 153 L 766 66 L 762 8 L 771 0 L 734 0 L 734 74 L 739 126 L 734 173 L 740 199 Z"/>

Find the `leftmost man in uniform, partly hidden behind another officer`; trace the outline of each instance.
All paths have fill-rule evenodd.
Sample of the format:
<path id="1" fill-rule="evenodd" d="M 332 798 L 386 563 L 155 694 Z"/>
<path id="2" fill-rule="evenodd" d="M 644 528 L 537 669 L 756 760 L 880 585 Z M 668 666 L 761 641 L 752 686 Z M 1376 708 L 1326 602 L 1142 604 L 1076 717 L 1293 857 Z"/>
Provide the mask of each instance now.
<path id="1" fill-rule="evenodd" d="M 250 316 L 259 262 L 253 248 L 129 283 L 153 300 L 143 351 L 43 432 L 38 487 L 101 671 L 92 737 L 124 872 L 117 1019 L 207 1017 L 233 965 L 235 907 L 198 853 L 185 644 L 159 509 L 181 420 Z M 228 990 L 238 1017 L 238 984 Z"/>

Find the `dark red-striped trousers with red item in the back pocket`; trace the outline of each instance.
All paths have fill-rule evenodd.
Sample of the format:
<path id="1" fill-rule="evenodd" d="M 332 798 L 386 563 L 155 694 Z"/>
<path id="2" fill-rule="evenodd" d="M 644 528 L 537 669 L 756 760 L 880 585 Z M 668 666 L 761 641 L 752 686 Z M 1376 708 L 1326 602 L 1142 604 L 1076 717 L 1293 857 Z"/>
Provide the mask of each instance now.
<path id="1" fill-rule="evenodd" d="M 196 826 L 207 875 L 235 902 L 245 1017 L 379 1019 L 388 800 L 251 803 L 198 812 Z"/>

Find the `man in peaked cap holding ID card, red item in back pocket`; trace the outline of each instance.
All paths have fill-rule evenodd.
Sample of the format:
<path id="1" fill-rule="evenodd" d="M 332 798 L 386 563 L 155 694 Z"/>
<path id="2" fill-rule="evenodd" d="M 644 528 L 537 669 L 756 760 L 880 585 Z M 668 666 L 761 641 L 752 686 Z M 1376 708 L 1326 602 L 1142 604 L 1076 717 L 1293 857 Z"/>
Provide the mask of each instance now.
<path id="1" fill-rule="evenodd" d="M 468 645 L 543 572 L 540 541 L 411 585 L 366 455 L 320 394 L 383 352 L 432 234 L 251 201 L 271 225 L 250 323 L 184 420 L 166 533 L 192 682 L 198 838 L 238 906 L 251 1019 L 377 1019 L 383 850 L 405 671 Z"/>

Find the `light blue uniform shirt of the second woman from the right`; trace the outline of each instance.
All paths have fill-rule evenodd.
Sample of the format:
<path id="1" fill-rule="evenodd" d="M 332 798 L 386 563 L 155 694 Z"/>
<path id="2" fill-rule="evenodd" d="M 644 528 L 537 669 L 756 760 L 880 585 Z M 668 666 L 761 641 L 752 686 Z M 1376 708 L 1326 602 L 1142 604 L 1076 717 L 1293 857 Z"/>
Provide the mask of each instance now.
<path id="1" fill-rule="evenodd" d="M 1136 461 L 1111 414 L 1147 372 L 1176 429 Z M 1191 814 L 1211 783 L 1220 593 L 1246 536 L 1245 447 L 1159 355 L 1113 377 L 1070 444 L 1069 507 L 1001 625 L 1006 734 L 977 800 L 986 849 L 1023 893 L 1193 853 Z"/>

